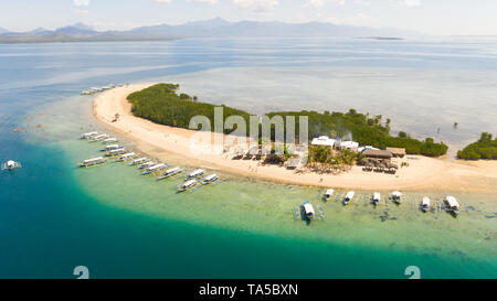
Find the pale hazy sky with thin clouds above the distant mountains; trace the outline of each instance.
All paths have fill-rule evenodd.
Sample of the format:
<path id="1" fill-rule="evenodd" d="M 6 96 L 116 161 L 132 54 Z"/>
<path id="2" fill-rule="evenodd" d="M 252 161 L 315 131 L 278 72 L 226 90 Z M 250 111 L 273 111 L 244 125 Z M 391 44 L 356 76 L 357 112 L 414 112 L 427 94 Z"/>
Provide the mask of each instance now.
<path id="1" fill-rule="evenodd" d="M 29 31 L 77 22 L 97 30 L 228 21 L 309 21 L 415 30 L 432 35 L 497 35 L 496 0 L 15 0 L 0 28 Z"/>

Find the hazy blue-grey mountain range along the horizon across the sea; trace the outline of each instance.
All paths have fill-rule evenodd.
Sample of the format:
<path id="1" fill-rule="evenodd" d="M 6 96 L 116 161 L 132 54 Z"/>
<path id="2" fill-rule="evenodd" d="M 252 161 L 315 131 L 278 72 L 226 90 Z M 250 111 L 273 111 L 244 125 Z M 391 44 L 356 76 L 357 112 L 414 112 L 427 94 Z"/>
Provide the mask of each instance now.
<path id="1" fill-rule="evenodd" d="M 231 37 L 231 36 L 385 36 L 405 39 L 420 33 L 398 29 L 337 25 L 324 22 L 285 23 L 240 21 L 229 22 L 221 18 L 188 22 L 180 25 L 142 26 L 129 31 L 96 31 L 77 23 L 49 31 L 36 29 L 23 33 L 0 33 L 0 43 L 17 42 L 76 42 L 76 41 L 151 41 L 179 37 Z"/>

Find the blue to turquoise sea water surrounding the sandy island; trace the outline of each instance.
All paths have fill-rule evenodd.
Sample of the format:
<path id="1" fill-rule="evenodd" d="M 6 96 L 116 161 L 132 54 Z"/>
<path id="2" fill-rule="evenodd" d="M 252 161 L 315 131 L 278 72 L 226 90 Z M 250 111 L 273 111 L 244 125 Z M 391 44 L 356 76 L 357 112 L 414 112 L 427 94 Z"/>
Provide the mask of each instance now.
<path id="1" fill-rule="evenodd" d="M 234 207 L 231 212 L 215 204 L 218 198 L 221 204 L 226 204 L 240 197 L 236 192 L 246 186 L 246 200 L 240 203 L 251 209 L 250 202 L 272 202 L 274 196 L 271 192 L 281 191 L 281 195 L 288 197 L 292 193 L 304 196 L 317 192 L 304 187 L 244 183 L 237 182 L 243 180 L 233 179 L 233 184 L 225 186 L 222 196 L 207 194 L 203 200 L 200 197 L 204 203 L 213 202 L 212 206 L 221 206 L 219 214 L 233 215 L 232 219 L 219 217 L 221 222 L 216 224 L 213 222 L 215 211 L 212 213 L 202 204 L 198 204 L 198 207 L 205 209 L 208 217 L 200 216 L 202 212 L 195 212 L 188 205 L 178 205 L 177 215 L 168 208 L 162 208 L 163 212 L 157 209 L 160 214 L 155 214 L 155 209 L 148 209 L 148 203 L 157 205 L 163 190 L 150 187 L 149 192 L 138 193 L 136 190 L 119 187 L 123 183 L 129 183 L 133 187 L 133 178 L 124 166 L 92 170 L 95 175 L 92 182 L 92 176 L 74 168 L 75 158 L 82 152 L 89 152 L 86 146 L 80 147 L 80 141 L 74 138 L 83 129 L 99 126 L 91 116 L 91 99 L 77 96 L 91 86 L 178 79 L 181 85 L 184 80 L 191 94 L 197 93 L 202 99 L 212 97 L 212 94 L 209 87 L 199 82 L 210 83 L 228 74 L 234 78 L 223 82 L 229 93 L 224 93 L 223 99 L 209 100 L 257 110 L 266 99 L 257 95 L 253 101 L 247 101 L 246 94 L 237 95 L 233 90 L 243 87 L 257 90 L 257 86 L 251 86 L 250 80 L 256 80 L 260 75 L 269 74 L 267 80 L 273 78 L 278 83 L 276 87 L 269 87 L 267 93 L 284 95 L 285 85 L 294 84 L 287 82 L 289 77 L 306 86 L 304 84 L 311 85 L 316 78 L 328 78 L 339 71 L 341 75 L 347 75 L 343 76 L 346 79 L 339 82 L 346 87 L 364 80 L 366 89 L 383 90 L 385 87 L 379 86 L 379 83 L 384 84 L 384 80 L 371 82 L 371 77 L 389 74 L 387 82 L 394 80 L 395 86 L 404 86 L 380 94 L 384 98 L 390 97 L 382 104 L 383 107 L 364 107 L 366 99 L 361 95 L 357 97 L 357 103 L 355 98 L 350 101 L 330 98 L 324 105 L 319 103 L 322 100 L 320 98 L 319 101 L 302 101 L 300 95 L 292 90 L 295 86 L 288 87 L 289 93 L 284 95 L 283 101 L 288 106 L 293 100 L 294 105 L 300 107 L 331 107 L 337 110 L 353 105 L 381 114 L 382 109 L 395 104 L 393 96 L 402 93 L 414 97 L 423 95 L 417 90 L 420 83 L 421 86 L 433 80 L 436 83 L 436 79 L 445 78 L 448 72 L 458 75 L 458 78 L 450 78 L 454 83 L 444 82 L 446 87 L 461 86 L 462 80 L 469 84 L 459 87 L 459 94 L 465 95 L 478 86 L 476 94 L 480 96 L 472 99 L 472 111 L 465 109 L 465 99 L 458 99 L 461 103 L 450 110 L 457 115 L 457 120 L 463 120 L 459 121 L 462 129 L 457 132 L 443 131 L 440 139 L 457 143 L 473 139 L 482 128 L 496 131 L 495 122 L 488 121 L 495 120 L 497 115 L 497 101 L 493 103 L 496 95 L 493 82 L 497 78 L 496 58 L 497 43 L 493 41 L 189 39 L 168 42 L 0 45 L 0 161 L 13 159 L 23 164 L 14 173 L 0 174 L 0 277 L 74 278 L 73 268 L 83 265 L 89 268 L 91 277 L 98 278 L 404 278 L 404 268 L 417 265 L 426 267 L 422 269 L 423 276 L 430 278 L 495 278 L 497 258 L 495 254 L 491 256 L 491 250 L 496 247 L 497 225 L 495 219 L 484 217 L 495 213 L 491 204 L 496 200 L 493 196 L 467 196 L 480 206 L 482 214 L 472 215 L 467 221 L 457 221 L 457 227 L 473 227 L 475 237 L 461 235 L 450 243 L 443 240 L 446 237 L 444 230 L 454 227 L 454 221 L 436 217 L 442 219 L 443 227 L 431 225 L 433 233 L 429 233 L 427 237 L 431 238 L 426 238 L 430 244 L 408 246 L 404 241 L 403 245 L 399 243 L 402 247 L 398 248 L 394 241 L 402 240 L 395 238 L 399 233 L 385 227 L 366 206 L 358 215 L 347 216 L 343 213 L 342 216 L 349 219 L 330 215 L 337 222 L 330 218 L 332 221 L 329 224 L 324 224 L 329 226 L 327 229 L 324 226 L 307 229 L 305 225 L 288 221 L 282 224 L 288 225 L 289 230 L 279 229 L 281 219 L 266 217 L 265 213 L 257 211 L 251 212 L 246 221 L 240 218 L 244 216 L 243 207 L 240 211 Z M 425 69 L 436 76 L 419 77 L 417 74 Z M 392 71 L 395 71 L 393 75 Z M 288 77 L 286 72 L 292 76 Z M 416 76 L 409 77 L 410 74 Z M 399 77 L 406 78 L 406 82 L 395 82 Z M 409 90 L 409 83 L 416 88 Z M 326 84 L 314 88 L 327 93 Z M 305 90 L 299 93 L 305 95 Z M 223 95 L 223 87 L 216 86 L 216 93 Z M 437 93 L 432 90 L 425 95 L 426 104 L 433 104 L 432 97 Z M 457 90 L 446 93 L 457 94 Z M 477 101 L 485 107 L 479 108 Z M 426 104 L 417 103 L 421 111 Z M 61 107 L 63 109 L 57 109 Z M 479 118 L 475 119 L 475 116 Z M 423 127 L 425 122 L 409 122 L 416 118 L 420 117 L 409 119 L 409 116 L 402 116 L 399 119 L 408 121 L 398 120 L 395 126 L 408 127 L 413 135 L 430 135 L 431 128 Z M 426 118 L 437 119 L 436 115 Z M 469 125 L 469 121 L 466 123 L 464 120 L 472 122 Z M 41 122 L 40 128 L 36 127 L 38 122 Z M 450 128 L 451 125 L 452 120 L 447 119 L 441 127 Z M 24 132 L 14 132 L 15 128 L 23 128 Z M 115 171 L 123 174 L 119 180 L 123 182 L 103 183 L 103 175 L 108 179 Z M 137 198 L 140 198 L 139 208 L 129 205 L 137 203 Z M 168 204 L 175 208 L 172 202 L 188 201 L 183 198 L 177 196 L 169 200 L 171 204 Z M 485 204 L 479 204 L 479 200 L 485 200 Z M 278 202 L 285 204 L 284 200 Z M 190 213 L 199 216 L 189 216 Z M 393 213 L 406 216 L 405 212 Z M 430 223 L 434 221 L 430 219 Z M 421 227 L 421 224 L 409 218 L 400 223 L 403 224 L 399 227 L 405 232 L 412 226 Z M 351 238 L 347 238 L 346 229 L 349 227 L 355 228 L 356 236 Z M 378 233 L 368 234 L 369 227 Z M 311 230 L 317 234 L 310 234 Z M 330 236 L 340 239 L 334 241 Z M 380 236 L 388 238 L 384 241 L 380 239 L 380 243 L 369 241 Z M 364 237 L 369 237 L 368 241 Z M 421 237 L 413 235 L 410 238 L 423 244 Z M 478 248 L 469 247 L 476 245 L 474 241 L 478 241 Z M 437 251 L 435 246 L 445 244 L 463 247 L 457 250 L 451 245 L 447 250 Z M 308 265 L 305 258 L 313 258 L 315 264 Z"/>

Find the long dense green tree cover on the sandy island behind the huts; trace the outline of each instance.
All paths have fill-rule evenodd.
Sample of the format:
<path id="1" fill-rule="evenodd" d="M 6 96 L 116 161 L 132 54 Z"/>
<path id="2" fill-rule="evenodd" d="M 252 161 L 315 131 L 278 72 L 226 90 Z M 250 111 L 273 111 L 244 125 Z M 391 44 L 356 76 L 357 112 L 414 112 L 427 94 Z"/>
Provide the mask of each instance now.
<path id="1" fill-rule="evenodd" d="M 158 84 L 129 95 L 128 100 L 133 104 L 133 114 L 157 123 L 179 128 L 189 128 L 190 119 L 202 115 L 209 118 L 211 127 L 213 127 L 215 106 L 198 101 L 197 96 L 178 95 L 178 88 L 179 85 L 175 84 Z M 250 115 L 246 111 L 223 106 L 223 115 L 224 120 L 233 115 L 241 116 L 245 119 L 246 125 L 250 125 Z M 269 118 L 275 115 L 279 115 L 283 118 L 295 116 L 296 133 L 299 132 L 298 117 L 308 116 L 309 139 L 321 135 L 342 137 L 343 139 L 353 138 L 355 141 L 362 146 L 372 146 L 380 149 L 387 147 L 405 148 L 408 154 L 424 154 L 429 157 L 438 157 L 447 152 L 447 146 L 435 143 L 431 138 L 421 141 L 411 138 L 402 131 L 399 132 L 398 137 L 391 136 L 391 120 L 387 119 L 383 122 L 381 115 L 370 117 L 369 115 L 357 112 L 355 109 L 350 109 L 347 114 L 329 111 L 320 114 L 307 110 L 267 114 Z M 224 130 L 225 133 L 231 131 L 230 129 Z M 274 137 L 274 127 L 272 127 L 272 137 Z"/>

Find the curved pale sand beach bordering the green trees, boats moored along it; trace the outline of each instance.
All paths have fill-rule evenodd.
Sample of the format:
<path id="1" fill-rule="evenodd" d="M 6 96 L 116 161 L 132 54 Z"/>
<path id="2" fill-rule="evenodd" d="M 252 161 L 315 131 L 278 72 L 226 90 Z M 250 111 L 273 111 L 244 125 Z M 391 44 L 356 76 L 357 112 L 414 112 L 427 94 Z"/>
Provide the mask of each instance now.
<path id="1" fill-rule="evenodd" d="M 130 93 L 152 84 L 129 85 L 98 94 L 93 103 L 93 114 L 98 120 L 136 143 L 138 150 L 150 157 L 165 158 L 165 151 L 189 160 L 188 165 L 221 170 L 245 178 L 260 179 L 285 184 L 321 186 L 334 189 L 379 191 L 451 191 L 497 193 L 497 161 L 462 162 L 433 159 L 422 155 L 406 155 L 398 163 L 408 162 L 408 168 L 396 175 L 363 172 L 352 166 L 338 175 L 306 172 L 295 174 L 275 165 L 258 165 L 258 161 L 232 160 L 226 154 L 195 154 L 188 151 L 194 130 L 154 123 L 135 117 L 127 100 Z M 115 114 L 119 120 L 112 122 Z M 211 137 L 214 133 L 207 133 Z M 410 159 L 412 158 L 412 159 Z"/>

